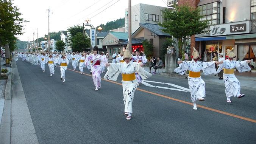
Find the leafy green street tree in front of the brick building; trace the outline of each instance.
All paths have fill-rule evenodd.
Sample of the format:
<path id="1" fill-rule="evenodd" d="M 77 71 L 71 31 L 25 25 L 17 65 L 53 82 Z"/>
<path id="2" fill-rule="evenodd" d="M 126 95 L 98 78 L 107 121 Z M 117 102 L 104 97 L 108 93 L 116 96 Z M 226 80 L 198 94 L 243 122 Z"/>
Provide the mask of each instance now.
<path id="1" fill-rule="evenodd" d="M 184 60 L 184 50 L 190 37 L 195 34 L 205 33 L 209 26 L 208 21 L 201 21 L 203 17 L 199 14 L 199 8 L 192 8 L 188 5 L 174 6 L 175 9 L 163 11 L 164 22 L 159 23 L 164 29 L 163 32 L 169 33 L 178 40 L 181 56 Z"/>

